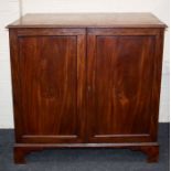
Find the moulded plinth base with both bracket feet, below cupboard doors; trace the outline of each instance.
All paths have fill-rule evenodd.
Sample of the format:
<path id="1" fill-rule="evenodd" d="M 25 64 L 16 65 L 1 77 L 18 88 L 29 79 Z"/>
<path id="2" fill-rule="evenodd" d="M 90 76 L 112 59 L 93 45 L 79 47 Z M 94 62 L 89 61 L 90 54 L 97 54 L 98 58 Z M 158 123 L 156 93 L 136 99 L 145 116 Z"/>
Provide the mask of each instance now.
<path id="1" fill-rule="evenodd" d="M 40 150 L 55 149 L 55 148 L 125 148 L 136 151 L 141 151 L 147 154 L 148 162 L 158 162 L 159 159 L 159 145 L 158 142 L 145 143 L 15 143 L 13 148 L 14 163 L 24 164 L 25 156 Z"/>

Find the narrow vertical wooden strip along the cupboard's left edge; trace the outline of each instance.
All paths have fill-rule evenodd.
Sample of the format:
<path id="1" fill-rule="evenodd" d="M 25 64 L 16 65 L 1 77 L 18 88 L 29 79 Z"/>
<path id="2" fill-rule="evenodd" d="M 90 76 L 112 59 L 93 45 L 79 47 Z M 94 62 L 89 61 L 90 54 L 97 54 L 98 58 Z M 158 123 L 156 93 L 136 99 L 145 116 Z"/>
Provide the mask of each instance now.
<path id="1" fill-rule="evenodd" d="M 12 76 L 12 96 L 13 96 L 13 118 L 15 141 L 21 140 L 23 122 L 21 119 L 21 87 L 20 87 L 20 68 L 18 55 L 18 33 L 17 30 L 9 30 L 10 38 L 10 60 L 11 60 L 11 76 Z"/>

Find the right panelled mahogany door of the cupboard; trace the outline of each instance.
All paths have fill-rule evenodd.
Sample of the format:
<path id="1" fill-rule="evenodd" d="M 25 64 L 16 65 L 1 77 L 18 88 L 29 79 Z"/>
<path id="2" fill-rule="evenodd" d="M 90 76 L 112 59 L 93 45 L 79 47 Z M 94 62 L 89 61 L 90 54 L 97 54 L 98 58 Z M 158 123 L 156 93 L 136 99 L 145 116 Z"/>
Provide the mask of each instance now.
<path id="1" fill-rule="evenodd" d="M 88 30 L 89 142 L 151 141 L 158 118 L 151 100 L 156 34 L 150 29 Z"/>

